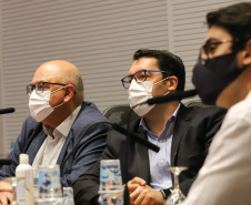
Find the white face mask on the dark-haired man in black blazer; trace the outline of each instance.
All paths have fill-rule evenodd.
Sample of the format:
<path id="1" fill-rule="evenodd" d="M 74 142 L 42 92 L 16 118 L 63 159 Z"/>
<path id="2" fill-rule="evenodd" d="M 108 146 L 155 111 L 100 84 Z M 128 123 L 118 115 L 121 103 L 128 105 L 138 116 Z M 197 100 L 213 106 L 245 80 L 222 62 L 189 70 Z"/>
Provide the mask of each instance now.
<path id="1" fill-rule="evenodd" d="M 137 104 L 140 104 L 142 102 L 145 102 L 147 100 L 152 98 L 152 88 L 154 84 L 158 84 L 162 81 L 168 80 L 169 78 L 162 79 L 161 81 L 153 83 L 152 81 L 144 81 L 141 83 L 138 83 L 134 79 L 131 82 L 131 85 L 129 88 L 128 94 L 130 100 L 130 106 L 133 107 Z M 169 93 L 169 92 L 168 92 Z M 165 94 L 168 94 L 165 93 Z M 164 94 L 164 95 L 165 95 Z M 141 104 L 135 107 L 133 107 L 133 111 L 139 115 L 143 116 L 147 114 L 150 110 L 152 110 L 153 105 L 149 104 Z"/>

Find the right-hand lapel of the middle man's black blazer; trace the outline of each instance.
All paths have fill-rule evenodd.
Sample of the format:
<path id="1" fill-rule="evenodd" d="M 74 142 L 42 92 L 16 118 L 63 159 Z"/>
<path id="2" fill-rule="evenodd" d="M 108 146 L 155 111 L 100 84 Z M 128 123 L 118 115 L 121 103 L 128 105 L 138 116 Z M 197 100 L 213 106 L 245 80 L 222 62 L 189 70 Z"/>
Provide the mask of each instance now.
<path id="1" fill-rule="evenodd" d="M 179 150 L 180 141 L 183 137 L 189 123 L 191 121 L 188 109 L 181 104 L 173 131 L 172 145 L 171 145 L 171 166 L 175 165 L 175 157 Z"/>

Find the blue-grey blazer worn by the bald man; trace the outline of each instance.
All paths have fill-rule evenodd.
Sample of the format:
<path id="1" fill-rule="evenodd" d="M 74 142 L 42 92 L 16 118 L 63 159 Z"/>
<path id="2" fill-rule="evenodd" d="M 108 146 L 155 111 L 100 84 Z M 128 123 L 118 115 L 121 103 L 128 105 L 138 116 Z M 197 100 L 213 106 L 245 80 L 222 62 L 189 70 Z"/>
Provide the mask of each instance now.
<path id="1" fill-rule="evenodd" d="M 84 130 L 90 124 L 100 121 L 108 120 L 93 103 L 84 101 L 62 146 L 57 164 L 61 164 L 63 158 L 72 151 L 76 142 L 82 135 Z M 110 125 L 99 124 L 86 133 L 81 141 L 81 146 L 64 165 L 61 178 L 63 186 L 71 186 L 80 174 L 88 170 L 91 164 L 97 162 L 106 147 L 107 132 L 109 130 Z M 38 123 L 29 116 L 23 123 L 22 131 L 16 141 L 14 148 L 8 156 L 8 158 L 12 160 L 13 163 L 10 166 L 3 166 L 0 171 L 0 176 L 14 176 L 16 167 L 19 164 L 20 153 L 27 153 L 29 155 L 29 163 L 32 165 L 36 154 L 46 137 L 47 135 L 43 132 L 42 123 Z"/>

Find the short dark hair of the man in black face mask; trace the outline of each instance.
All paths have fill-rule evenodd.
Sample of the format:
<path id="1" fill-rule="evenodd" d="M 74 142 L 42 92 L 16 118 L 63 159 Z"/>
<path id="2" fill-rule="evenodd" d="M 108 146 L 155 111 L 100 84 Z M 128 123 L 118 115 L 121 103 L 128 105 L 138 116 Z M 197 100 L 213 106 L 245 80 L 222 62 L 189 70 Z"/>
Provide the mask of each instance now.
<path id="1" fill-rule="evenodd" d="M 227 30 L 237 42 L 233 50 L 242 50 L 251 38 L 251 2 L 235 3 L 207 14 L 209 28 L 221 27 Z"/>

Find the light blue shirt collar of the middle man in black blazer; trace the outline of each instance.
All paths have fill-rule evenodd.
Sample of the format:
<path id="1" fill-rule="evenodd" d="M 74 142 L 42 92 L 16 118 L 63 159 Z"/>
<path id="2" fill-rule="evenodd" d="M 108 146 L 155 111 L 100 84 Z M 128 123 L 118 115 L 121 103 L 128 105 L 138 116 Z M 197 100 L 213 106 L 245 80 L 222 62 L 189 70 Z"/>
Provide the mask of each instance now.
<path id="1" fill-rule="evenodd" d="M 141 120 L 140 120 L 140 126 L 142 126 L 143 127 L 143 130 L 148 133 L 148 136 L 149 137 L 151 137 L 152 140 L 155 140 L 155 141 L 165 141 L 167 140 L 167 137 L 169 136 L 169 135 L 172 135 L 172 131 L 173 131 L 173 127 L 174 126 L 171 126 L 174 122 L 175 122 L 175 120 L 177 120 L 177 115 L 178 115 L 178 111 L 179 111 L 179 109 L 180 109 L 180 104 L 181 103 L 179 103 L 179 105 L 177 106 L 177 109 L 175 109 L 175 111 L 172 113 L 172 115 L 167 120 L 167 122 L 165 122 L 165 129 L 164 129 L 164 131 L 160 134 L 160 136 L 159 135 L 157 135 L 157 134 L 154 134 L 154 133 L 152 133 L 151 131 L 149 131 L 148 130 L 148 126 L 147 126 L 147 124 L 145 124 L 145 122 L 144 122 L 144 119 L 143 117 L 141 117 Z"/>

